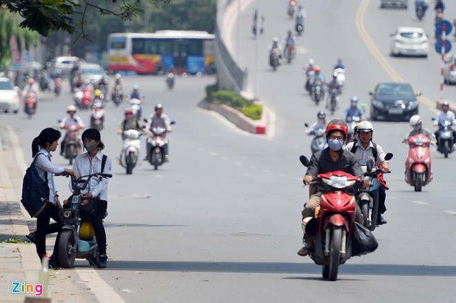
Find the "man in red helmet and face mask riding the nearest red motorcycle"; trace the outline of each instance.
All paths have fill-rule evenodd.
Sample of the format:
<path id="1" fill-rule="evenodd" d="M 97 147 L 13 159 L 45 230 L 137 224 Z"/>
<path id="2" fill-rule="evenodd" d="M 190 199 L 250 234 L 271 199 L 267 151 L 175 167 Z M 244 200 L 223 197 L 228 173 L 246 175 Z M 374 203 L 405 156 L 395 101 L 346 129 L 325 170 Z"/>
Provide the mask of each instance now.
<path id="1" fill-rule="evenodd" d="M 334 170 L 342 170 L 345 173 L 350 173 L 357 177 L 363 176 L 361 164 L 356 157 L 348 150 L 342 148 L 343 142 L 347 138 L 348 128 L 345 121 L 341 119 L 333 119 L 326 128 L 326 139 L 328 147 L 310 157 L 310 166 L 307 168 L 307 173 L 304 176 L 303 182 L 309 185 L 317 175 L 321 173 L 329 173 Z M 370 186 L 368 180 L 363 180 L 363 188 Z M 315 208 L 320 206 L 321 193 L 324 188 L 319 184 L 316 186 L 316 193 L 310 196 L 305 203 L 302 211 L 303 223 L 304 219 L 314 217 Z M 359 224 L 363 224 L 363 215 L 359 206 L 355 205 L 355 220 Z M 303 242 L 305 246 L 298 251 L 298 255 L 305 256 L 314 249 L 314 244 L 309 235 L 304 234 Z"/>

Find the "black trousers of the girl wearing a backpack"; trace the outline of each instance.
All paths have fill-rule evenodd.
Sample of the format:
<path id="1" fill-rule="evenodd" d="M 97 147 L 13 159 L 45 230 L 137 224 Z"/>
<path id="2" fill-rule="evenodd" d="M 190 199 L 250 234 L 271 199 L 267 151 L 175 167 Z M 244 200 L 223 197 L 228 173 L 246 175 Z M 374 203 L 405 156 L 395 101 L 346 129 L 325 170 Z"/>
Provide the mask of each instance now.
<path id="1" fill-rule="evenodd" d="M 54 255 L 58 254 L 59 249 L 59 235 L 61 226 L 63 224 L 59 218 L 60 209 L 59 206 L 48 202 L 44 210 L 37 217 L 37 231 L 35 231 L 37 254 L 39 259 L 46 255 L 46 235 L 50 233 L 59 233 L 54 244 Z M 49 224 L 50 218 L 53 218 L 56 223 Z"/>

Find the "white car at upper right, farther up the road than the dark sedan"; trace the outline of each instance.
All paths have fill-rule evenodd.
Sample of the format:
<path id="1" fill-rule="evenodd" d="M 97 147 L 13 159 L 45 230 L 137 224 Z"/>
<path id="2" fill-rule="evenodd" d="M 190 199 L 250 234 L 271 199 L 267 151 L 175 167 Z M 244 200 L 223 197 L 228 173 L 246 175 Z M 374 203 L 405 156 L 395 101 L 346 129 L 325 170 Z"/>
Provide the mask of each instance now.
<path id="1" fill-rule="evenodd" d="M 428 57 L 428 36 L 423 28 L 401 26 L 391 34 L 391 56 Z"/>

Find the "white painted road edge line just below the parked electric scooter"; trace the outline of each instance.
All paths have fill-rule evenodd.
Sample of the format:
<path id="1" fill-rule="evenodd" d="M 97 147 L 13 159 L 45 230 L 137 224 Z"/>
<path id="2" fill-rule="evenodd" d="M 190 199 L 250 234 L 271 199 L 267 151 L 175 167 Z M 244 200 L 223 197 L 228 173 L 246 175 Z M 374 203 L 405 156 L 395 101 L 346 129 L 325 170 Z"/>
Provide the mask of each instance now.
<path id="1" fill-rule="evenodd" d="M 86 286 L 90 287 L 91 292 L 97 297 L 99 302 L 125 302 L 111 286 L 104 282 L 95 269 L 76 269 L 76 273 Z"/>

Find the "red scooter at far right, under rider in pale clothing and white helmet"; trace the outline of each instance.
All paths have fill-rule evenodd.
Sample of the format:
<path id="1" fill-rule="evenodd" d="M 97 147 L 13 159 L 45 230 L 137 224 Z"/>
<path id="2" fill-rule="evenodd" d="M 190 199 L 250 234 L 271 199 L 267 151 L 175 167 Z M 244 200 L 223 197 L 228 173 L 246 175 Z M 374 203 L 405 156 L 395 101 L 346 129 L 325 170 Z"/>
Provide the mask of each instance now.
<path id="1" fill-rule="evenodd" d="M 421 187 L 426 186 L 433 179 L 430 170 L 429 146 L 431 142 L 425 135 L 415 135 L 404 139 L 403 143 L 406 142 L 409 146 L 406 159 L 406 182 L 414 186 L 415 191 L 421 191 Z"/>

